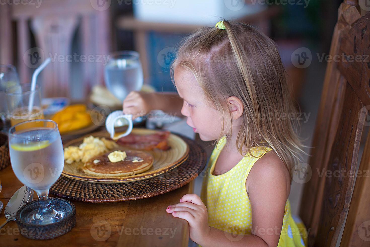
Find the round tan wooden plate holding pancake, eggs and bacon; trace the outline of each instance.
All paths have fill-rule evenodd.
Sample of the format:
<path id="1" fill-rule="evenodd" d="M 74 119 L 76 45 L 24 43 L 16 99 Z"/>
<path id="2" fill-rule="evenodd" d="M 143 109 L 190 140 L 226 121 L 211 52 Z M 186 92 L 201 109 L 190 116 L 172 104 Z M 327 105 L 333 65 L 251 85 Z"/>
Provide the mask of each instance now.
<path id="1" fill-rule="evenodd" d="M 157 132 L 156 130 L 148 130 L 144 128 L 134 128 L 132 130 L 132 133 L 135 134 L 153 134 Z M 100 131 L 88 134 L 87 136 L 94 136 L 94 137 L 106 137 L 109 138 L 109 133 L 107 131 Z M 73 141 L 70 141 L 64 145 L 64 147 L 68 146 L 78 146 L 82 143 L 83 138 L 80 137 Z M 154 150 L 154 151 L 145 151 L 149 154 L 151 154 L 154 158 L 153 166 L 145 171 L 144 173 L 135 174 L 132 176 L 127 177 L 95 177 L 85 174 L 83 171 L 78 171 L 76 169 L 77 164 L 67 164 L 64 163 L 64 169 L 62 172 L 62 175 L 65 177 L 73 178 L 75 180 L 81 180 L 81 181 L 87 181 L 91 183 L 105 183 L 105 184 L 114 184 L 114 183 L 129 183 L 134 181 L 139 181 L 147 178 L 151 178 L 154 176 L 157 176 L 159 174 L 165 173 L 166 171 L 169 171 L 180 164 L 182 164 L 189 155 L 189 146 L 187 143 L 185 143 L 184 140 L 182 140 L 181 137 L 170 134 L 168 137 L 168 144 L 171 147 L 169 150 L 162 151 L 162 150 Z M 120 146 L 119 148 L 116 148 L 114 150 L 134 150 L 129 147 Z M 112 150 L 112 151 L 114 151 Z"/>

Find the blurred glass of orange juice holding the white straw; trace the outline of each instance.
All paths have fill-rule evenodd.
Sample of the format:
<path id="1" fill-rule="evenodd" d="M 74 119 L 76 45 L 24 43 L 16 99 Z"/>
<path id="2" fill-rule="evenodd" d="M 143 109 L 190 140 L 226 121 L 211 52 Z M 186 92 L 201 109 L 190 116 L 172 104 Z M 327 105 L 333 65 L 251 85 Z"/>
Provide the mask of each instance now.
<path id="1" fill-rule="evenodd" d="M 18 84 L 8 87 L 5 94 L 11 126 L 28 120 L 44 119 L 39 86 L 36 85 L 36 89 L 31 90 L 31 83 Z M 30 101 L 33 101 L 31 109 Z"/>

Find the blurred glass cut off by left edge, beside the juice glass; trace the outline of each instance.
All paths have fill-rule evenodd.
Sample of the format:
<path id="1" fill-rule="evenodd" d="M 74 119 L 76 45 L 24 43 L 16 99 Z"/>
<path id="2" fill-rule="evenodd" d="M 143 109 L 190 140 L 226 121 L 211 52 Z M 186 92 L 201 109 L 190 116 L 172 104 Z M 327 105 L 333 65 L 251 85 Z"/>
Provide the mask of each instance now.
<path id="1" fill-rule="evenodd" d="M 9 119 L 7 118 L 8 107 L 5 90 L 16 84 L 19 84 L 16 67 L 12 64 L 0 64 L 0 121 L 3 123 L 3 128 L 6 131 L 10 124 Z"/>

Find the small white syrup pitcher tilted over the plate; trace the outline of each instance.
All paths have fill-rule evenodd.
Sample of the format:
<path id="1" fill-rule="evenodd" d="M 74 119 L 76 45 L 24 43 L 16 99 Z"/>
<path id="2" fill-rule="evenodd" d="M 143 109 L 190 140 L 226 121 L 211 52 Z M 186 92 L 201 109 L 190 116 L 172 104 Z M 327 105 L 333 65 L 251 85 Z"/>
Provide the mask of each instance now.
<path id="1" fill-rule="evenodd" d="M 132 115 L 124 114 L 122 111 L 113 111 L 105 120 L 105 128 L 111 134 L 113 140 L 127 136 L 132 131 Z M 127 126 L 127 128 L 125 128 Z M 115 128 L 122 130 L 116 132 Z"/>

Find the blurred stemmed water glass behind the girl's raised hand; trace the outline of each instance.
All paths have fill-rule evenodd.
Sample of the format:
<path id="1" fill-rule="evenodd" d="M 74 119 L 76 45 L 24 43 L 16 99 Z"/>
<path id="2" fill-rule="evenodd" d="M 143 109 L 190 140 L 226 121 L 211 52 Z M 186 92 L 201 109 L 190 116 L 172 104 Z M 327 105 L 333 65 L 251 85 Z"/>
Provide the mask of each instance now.
<path id="1" fill-rule="evenodd" d="M 144 83 L 139 53 L 119 51 L 110 54 L 104 67 L 105 85 L 117 99 L 123 100 L 131 91 L 139 91 Z"/>

